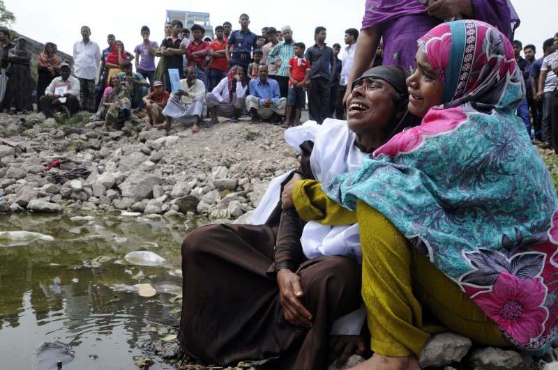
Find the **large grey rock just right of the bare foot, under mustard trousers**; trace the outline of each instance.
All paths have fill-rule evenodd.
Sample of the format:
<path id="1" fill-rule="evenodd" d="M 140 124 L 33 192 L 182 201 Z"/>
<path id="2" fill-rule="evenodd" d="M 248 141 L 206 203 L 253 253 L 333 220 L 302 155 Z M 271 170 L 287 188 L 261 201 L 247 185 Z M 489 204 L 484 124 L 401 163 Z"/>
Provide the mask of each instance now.
<path id="1" fill-rule="evenodd" d="M 473 345 L 471 339 L 452 332 L 431 337 L 418 359 L 421 367 L 441 367 L 452 362 L 460 362 Z"/>

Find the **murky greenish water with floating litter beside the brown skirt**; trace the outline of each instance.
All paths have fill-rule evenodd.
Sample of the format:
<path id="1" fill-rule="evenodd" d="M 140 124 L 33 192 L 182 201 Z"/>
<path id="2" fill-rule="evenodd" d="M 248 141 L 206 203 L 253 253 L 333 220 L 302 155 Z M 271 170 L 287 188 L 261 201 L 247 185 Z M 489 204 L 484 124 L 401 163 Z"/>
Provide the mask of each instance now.
<path id="1" fill-rule="evenodd" d="M 165 219 L 120 215 L 70 219 L 73 216 L 0 216 L 0 231 L 54 237 L 35 241 L 0 237 L 0 369 L 31 369 L 33 353 L 43 342 L 52 341 L 70 344 L 75 353 L 73 361 L 63 365 L 65 370 L 135 369 L 133 356 L 145 354 L 141 346 L 146 341 L 175 334 L 153 322 L 178 323 L 181 302 L 175 299 L 176 292 L 158 289 L 153 298 L 144 298 L 116 292 L 114 284 L 181 286 L 173 270 L 180 268 L 186 227 Z M 154 252 L 167 262 L 143 267 L 123 260 L 137 250 Z M 84 261 L 98 256 L 112 261 L 100 268 L 84 267 Z M 150 369 L 172 368 L 156 356 L 151 358 L 156 364 Z M 52 366 L 56 369 L 55 363 Z"/>

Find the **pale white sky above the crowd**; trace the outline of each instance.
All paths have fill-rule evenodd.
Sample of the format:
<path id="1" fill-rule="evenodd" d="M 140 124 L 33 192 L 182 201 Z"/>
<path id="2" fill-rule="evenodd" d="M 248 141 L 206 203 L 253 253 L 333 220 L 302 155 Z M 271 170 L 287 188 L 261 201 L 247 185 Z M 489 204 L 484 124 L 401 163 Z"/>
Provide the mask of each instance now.
<path id="1" fill-rule="evenodd" d="M 511 2 L 521 19 L 515 38 L 523 45 L 536 45 L 537 58 L 542 56 L 543 41 L 558 32 L 558 0 Z M 365 0 L 282 0 L 272 7 L 269 1 L 261 0 L 234 0 L 231 2 L 234 6 L 224 6 L 223 0 L 4 0 L 4 3 L 17 17 L 12 25 L 15 31 L 40 43 L 52 41 L 59 50 L 72 54 L 73 43 L 80 40 L 80 27 L 84 24 L 91 27 L 91 40 L 101 49 L 107 46 L 107 34 L 114 33 L 126 50 L 133 52 L 142 41 L 140 29 L 144 24 L 151 29 L 151 40 L 160 43 L 167 9 L 210 13 L 213 26 L 229 21 L 233 29 L 239 29 L 239 15 L 248 13 L 250 29 L 258 34 L 263 26 L 280 29 L 289 24 L 293 38 L 307 47 L 313 44 L 315 27 L 325 26 L 326 43 L 343 45 L 345 29 L 360 29 Z"/>

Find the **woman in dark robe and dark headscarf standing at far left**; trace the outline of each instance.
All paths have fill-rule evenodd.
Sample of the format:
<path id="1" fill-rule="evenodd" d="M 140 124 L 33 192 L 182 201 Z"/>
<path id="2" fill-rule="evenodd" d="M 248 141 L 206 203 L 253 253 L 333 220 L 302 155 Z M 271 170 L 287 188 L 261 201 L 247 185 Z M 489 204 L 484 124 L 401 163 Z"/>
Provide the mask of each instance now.
<path id="1" fill-rule="evenodd" d="M 31 78 L 31 52 L 27 40 L 20 37 L 15 47 L 8 52 L 8 84 L 6 86 L 6 105 L 10 114 L 33 111 L 33 79 Z"/>

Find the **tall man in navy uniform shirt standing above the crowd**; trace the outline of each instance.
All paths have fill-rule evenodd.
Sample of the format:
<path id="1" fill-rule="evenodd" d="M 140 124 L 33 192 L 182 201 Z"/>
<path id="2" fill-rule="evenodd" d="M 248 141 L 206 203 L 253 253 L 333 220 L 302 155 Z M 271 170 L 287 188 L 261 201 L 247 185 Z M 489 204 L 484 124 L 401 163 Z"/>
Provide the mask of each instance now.
<path id="1" fill-rule="evenodd" d="M 244 75 L 248 75 L 248 64 L 252 63 L 252 50 L 257 49 L 257 35 L 248 29 L 250 17 L 241 14 L 239 17 L 241 29 L 233 31 L 227 41 L 227 61 L 230 66 L 240 65 Z M 232 56 L 231 56 L 232 49 Z"/>

